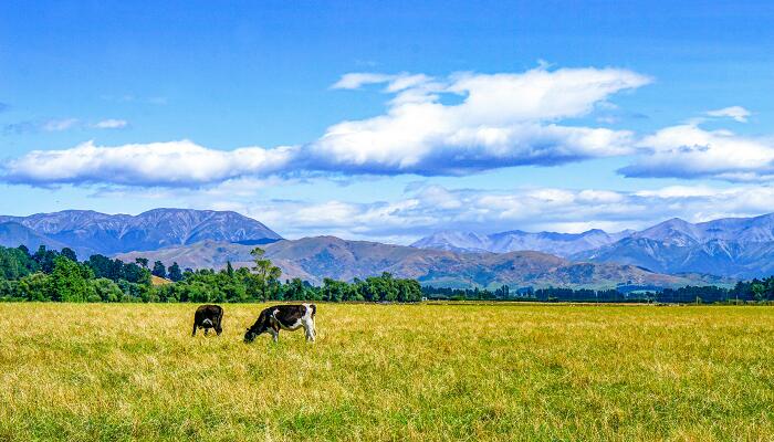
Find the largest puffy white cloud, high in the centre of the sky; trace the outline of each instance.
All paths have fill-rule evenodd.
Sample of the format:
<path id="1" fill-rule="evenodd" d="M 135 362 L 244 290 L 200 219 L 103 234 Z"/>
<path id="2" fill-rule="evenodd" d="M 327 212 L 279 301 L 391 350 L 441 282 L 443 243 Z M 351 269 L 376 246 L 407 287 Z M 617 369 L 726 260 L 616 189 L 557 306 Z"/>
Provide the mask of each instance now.
<path id="1" fill-rule="evenodd" d="M 334 87 L 384 83 L 384 92 L 395 96 L 383 115 L 330 127 L 308 146 L 310 159 L 333 170 L 432 176 L 624 155 L 631 149 L 630 131 L 558 122 L 649 82 L 616 69 L 541 67 L 446 78 L 347 74 Z M 444 104 L 447 97 L 460 102 Z"/>

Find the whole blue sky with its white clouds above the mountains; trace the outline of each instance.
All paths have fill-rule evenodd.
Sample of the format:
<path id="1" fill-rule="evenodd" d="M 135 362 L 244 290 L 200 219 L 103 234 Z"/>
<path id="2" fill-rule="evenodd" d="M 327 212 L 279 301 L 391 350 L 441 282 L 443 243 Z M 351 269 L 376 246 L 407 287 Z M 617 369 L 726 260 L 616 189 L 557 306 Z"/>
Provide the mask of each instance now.
<path id="1" fill-rule="evenodd" d="M 1 3 L 0 212 L 408 243 L 772 211 L 771 2 L 418 3 Z"/>

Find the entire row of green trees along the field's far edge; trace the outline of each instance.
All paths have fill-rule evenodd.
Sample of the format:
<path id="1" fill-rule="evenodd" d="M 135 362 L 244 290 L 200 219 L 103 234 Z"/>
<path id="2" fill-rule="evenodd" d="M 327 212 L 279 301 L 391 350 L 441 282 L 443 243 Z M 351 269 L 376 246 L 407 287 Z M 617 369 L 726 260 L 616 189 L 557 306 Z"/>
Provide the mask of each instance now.
<path id="1" fill-rule="evenodd" d="M 774 276 L 736 283 L 732 288 L 686 286 L 661 291 L 588 290 L 546 287 L 512 290 L 447 288 L 420 286 L 415 280 L 389 273 L 353 282 L 324 278 L 315 286 L 301 278 L 282 282 L 282 272 L 252 252 L 252 267 L 220 271 L 180 269 L 177 263 L 153 265 L 138 257 L 134 263 L 95 254 L 79 261 L 69 248 L 61 251 L 41 245 L 34 253 L 27 246 L 0 246 L 0 301 L 53 302 L 417 302 L 430 299 L 598 302 L 598 303 L 729 303 L 774 301 Z M 153 284 L 151 275 L 164 280 Z"/>

